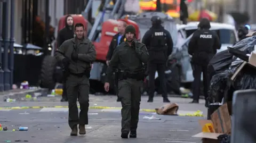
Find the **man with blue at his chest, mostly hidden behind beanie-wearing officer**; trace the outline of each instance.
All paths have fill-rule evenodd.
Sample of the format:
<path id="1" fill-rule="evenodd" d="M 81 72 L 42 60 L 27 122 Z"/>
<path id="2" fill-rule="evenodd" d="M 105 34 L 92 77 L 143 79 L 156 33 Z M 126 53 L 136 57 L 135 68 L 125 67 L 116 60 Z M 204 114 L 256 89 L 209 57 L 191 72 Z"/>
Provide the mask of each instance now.
<path id="1" fill-rule="evenodd" d="M 108 53 L 107 53 L 107 65 L 109 65 L 109 61 L 113 55 L 113 52 L 114 52 L 114 49 L 116 48 L 116 46 L 118 46 L 119 44 L 123 43 L 124 41 L 124 32 L 125 32 L 125 27 L 126 27 L 126 22 L 124 21 L 120 21 L 118 23 L 118 33 L 113 37 L 113 39 L 111 40 L 111 43 L 109 45 L 109 49 L 108 49 Z M 115 70 L 114 70 L 115 71 Z M 120 102 L 120 98 L 118 97 L 118 87 L 117 87 L 117 84 L 118 84 L 118 80 L 116 79 L 116 74 L 115 74 L 115 92 L 116 92 L 116 95 L 117 95 L 117 102 Z"/>

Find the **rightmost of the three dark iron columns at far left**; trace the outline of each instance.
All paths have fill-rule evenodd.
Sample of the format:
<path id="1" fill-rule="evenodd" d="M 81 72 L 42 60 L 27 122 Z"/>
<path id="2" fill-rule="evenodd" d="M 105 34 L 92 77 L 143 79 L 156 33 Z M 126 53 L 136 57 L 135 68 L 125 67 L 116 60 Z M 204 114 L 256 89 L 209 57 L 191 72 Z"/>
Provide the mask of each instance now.
<path id="1" fill-rule="evenodd" d="M 13 84 L 13 69 L 14 69 L 14 14 L 15 14 L 15 1 L 11 0 L 11 27 L 10 27 L 10 55 L 9 55 L 9 69 L 11 71 L 10 75 L 10 86 Z"/>

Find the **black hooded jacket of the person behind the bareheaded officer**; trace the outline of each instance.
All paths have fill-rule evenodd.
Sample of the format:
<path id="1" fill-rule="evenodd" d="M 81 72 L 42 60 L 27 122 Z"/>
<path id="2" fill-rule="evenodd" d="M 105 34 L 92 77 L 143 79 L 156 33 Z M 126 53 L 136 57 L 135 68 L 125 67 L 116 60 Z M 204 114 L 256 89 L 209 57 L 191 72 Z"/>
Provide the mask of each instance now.
<path id="1" fill-rule="evenodd" d="M 67 18 L 69 17 L 69 15 L 66 17 L 66 27 L 61 29 L 58 33 L 58 38 L 57 38 L 57 46 L 60 47 L 60 45 L 66 41 L 66 40 L 69 40 L 69 39 L 72 39 L 74 38 L 74 28 L 72 27 L 70 29 L 70 27 L 68 26 L 67 24 Z"/>

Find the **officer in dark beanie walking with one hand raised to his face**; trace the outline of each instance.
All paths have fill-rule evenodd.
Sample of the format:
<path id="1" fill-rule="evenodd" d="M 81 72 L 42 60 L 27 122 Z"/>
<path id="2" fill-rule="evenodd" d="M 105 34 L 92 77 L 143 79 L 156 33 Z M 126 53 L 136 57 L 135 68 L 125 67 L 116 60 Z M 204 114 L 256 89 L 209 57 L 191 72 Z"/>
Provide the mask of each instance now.
<path id="1" fill-rule="evenodd" d="M 144 44 L 135 39 L 135 28 L 125 28 L 126 42 L 117 46 L 109 62 L 105 90 L 109 91 L 109 81 L 113 69 L 118 70 L 118 91 L 122 103 L 121 137 L 137 138 L 137 126 L 141 101 L 142 84 L 145 79 L 143 63 L 148 62 L 148 52 Z"/>

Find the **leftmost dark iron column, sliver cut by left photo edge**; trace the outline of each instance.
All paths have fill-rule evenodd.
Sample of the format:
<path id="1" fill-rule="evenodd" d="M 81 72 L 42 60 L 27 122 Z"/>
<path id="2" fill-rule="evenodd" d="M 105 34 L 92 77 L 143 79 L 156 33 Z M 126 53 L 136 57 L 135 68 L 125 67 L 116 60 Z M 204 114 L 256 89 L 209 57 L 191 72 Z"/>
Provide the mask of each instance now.
<path id="1" fill-rule="evenodd" d="M 0 21 L 3 21 L 2 15 L 3 15 L 3 3 L 0 2 Z M 1 47 L 2 47 L 2 42 L 3 42 L 2 24 L 3 24 L 3 22 L 0 23 L 0 45 L 1 45 Z M 0 92 L 1 91 L 4 91 L 4 71 L 2 70 L 2 48 L 1 48 L 1 52 L 0 52 Z"/>

